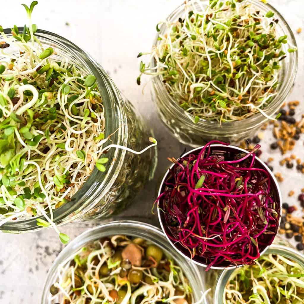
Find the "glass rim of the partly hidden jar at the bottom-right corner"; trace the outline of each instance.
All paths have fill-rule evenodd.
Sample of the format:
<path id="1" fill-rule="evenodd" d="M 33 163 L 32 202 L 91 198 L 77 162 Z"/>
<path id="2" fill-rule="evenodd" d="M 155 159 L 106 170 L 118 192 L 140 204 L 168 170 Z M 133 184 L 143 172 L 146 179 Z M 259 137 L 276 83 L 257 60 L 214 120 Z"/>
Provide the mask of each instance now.
<path id="1" fill-rule="evenodd" d="M 304 255 L 295 249 L 283 245 L 272 244 L 264 252 L 264 254 L 280 254 L 284 257 L 292 259 L 293 261 L 299 263 L 300 265 L 302 265 L 302 267 L 304 267 Z M 214 304 L 223 303 L 224 288 L 232 273 L 233 270 L 222 271 L 220 273 L 219 278 L 216 281 L 216 285 L 213 293 Z"/>

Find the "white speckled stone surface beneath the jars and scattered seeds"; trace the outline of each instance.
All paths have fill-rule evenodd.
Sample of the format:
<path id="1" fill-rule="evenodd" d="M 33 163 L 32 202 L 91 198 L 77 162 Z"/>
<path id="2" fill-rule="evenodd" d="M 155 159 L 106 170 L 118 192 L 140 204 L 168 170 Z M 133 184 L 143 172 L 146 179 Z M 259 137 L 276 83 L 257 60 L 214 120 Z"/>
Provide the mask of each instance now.
<path id="1" fill-rule="evenodd" d="M 0 24 L 11 27 L 27 23 L 26 13 L 21 6 L 29 1 L 2 1 Z M 151 100 L 149 88 L 142 94 L 142 88 L 136 85 L 140 51 L 148 51 L 155 35 L 155 25 L 178 5 L 181 0 L 40 0 L 34 9 L 33 22 L 41 29 L 46 29 L 73 41 L 92 54 L 112 77 L 118 88 L 139 109 L 147 123 L 154 129 L 157 138 L 159 161 L 155 181 L 146 186 L 130 209 L 123 216 L 142 217 L 144 221 L 157 224 L 155 216 L 150 214 L 155 196 L 157 181 L 169 165 L 168 156 L 178 156 L 184 146 L 171 137 L 157 117 Z M 293 31 L 304 26 L 304 5 L 302 0 L 272 0 L 271 4 L 282 12 Z M 65 23 L 69 22 L 69 26 Z M 299 70 L 295 86 L 288 100 L 303 101 L 303 44 L 304 31 L 295 34 L 299 47 Z M 145 82 L 145 80 L 143 81 Z M 304 103 L 301 105 L 304 112 Z M 299 111 L 298 111 L 299 113 Z M 262 141 L 263 154 L 267 160 L 271 155 L 277 160 L 280 154 L 269 149 L 270 133 L 265 132 Z M 264 148 L 263 148 L 264 147 Z M 297 142 L 296 154 L 303 157 L 303 138 Z M 289 190 L 304 187 L 303 175 L 295 169 L 282 169 L 278 161 L 274 162 L 274 172 L 282 172 L 285 181 L 281 184 L 284 201 L 297 203 L 296 196 L 288 198 Z M 96 223 L 72 223 L 62 227 L 71 239 Z M 0 304 L 39 303 L 43 282 L 57 254 L 63 248 L 56 233 L 46 230 L 23 235 L 0 234 Z"/>

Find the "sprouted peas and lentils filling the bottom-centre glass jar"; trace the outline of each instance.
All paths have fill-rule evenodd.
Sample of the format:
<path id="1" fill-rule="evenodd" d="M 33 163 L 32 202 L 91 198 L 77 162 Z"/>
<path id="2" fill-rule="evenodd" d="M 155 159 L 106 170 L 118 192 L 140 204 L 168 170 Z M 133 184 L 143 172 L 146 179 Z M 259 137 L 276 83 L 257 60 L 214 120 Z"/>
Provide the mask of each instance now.
<path id="1" fill-rule="evenodd" d="M 49 304 L 192 304 L 181 268 L 161 248 L 141 238 L 114 235 L 78 250 L 58 267 Z"/>

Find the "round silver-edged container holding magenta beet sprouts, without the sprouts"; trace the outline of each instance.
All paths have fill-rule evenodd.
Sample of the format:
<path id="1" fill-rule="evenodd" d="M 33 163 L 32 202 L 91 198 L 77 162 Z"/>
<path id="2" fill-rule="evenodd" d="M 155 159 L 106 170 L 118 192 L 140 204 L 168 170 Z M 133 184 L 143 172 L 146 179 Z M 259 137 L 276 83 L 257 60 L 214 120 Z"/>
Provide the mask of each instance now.
<path id="1" fill-rule="evenodd" d="M 212 144 L 211 146 L 211 154 L 212 152 L 216 152 L 217 154 L 220 154 L 220 155 L 225 155 L 225 154 L 228 154 L 229 153 L 233 153 L 233 154 L 248 154 L 249 152 L 247 150 L 244 150 L 242 148 L 239 148 L 239 147 L 235 147 L 235 146 L 225 146 L 225 145 L 222 145 L 222 144 Z M 203 147 L 198 147 L 198 148 L 195 148 L 193 150 L 190 150 L 188 151 L 187 153 L 183 154 L 181 157 L 179 158 L 182 158 L 182 157 L 185 157 L 189 154 L 196 154 L 197 151 L 200 151 L 202 150 Z M 164 183 L 168 177 L 169 174 L 171 174 L 171 169 L 175 166 L 175 164 L 172 164 L 168 170 L 166 171 L 166 173 L 164 174 L 164 177 L 161 181 L 161 184 L 159 186 L 159 189 L 158 189 L 158 193 L 157 193 L 157 197 L 160 197 L 160 195 L 164 192 Z M 278 220 L 278 225 L 277 225 L 277 230 L 278 230 L 278 227 L 280 226 L 280 223 L 281 223 L 281 218 L 282 218 L 282 194 L 281 194 L 281 190 L 280 190 L 280 187 L 279 187 L 279 184 L 278 184 L 278 181 L 277 179 L 275 178 L 274 174 L 271 172 L 271 170 L 268 168 L 268 166 L 263 162 L 261 161 L 258 157 L 255 157 L 255 164 L 254 164 L 254 167 L 256 168 L 262 168 L 264 170 L 266 170 L 268 172 L 268 174 L 270 175 L 271 177 L 271 186 L 272 186 L 272 192 L 273 192 L 273 196 L 275 198 L 275 200 L 278 202 L 278 206 L 279 206 L 279 210 L 280 210 L 280 218 Z M 163 222 L 163 212 L 161 212 L 161 209 L 162 209 L 162 206 L 160 206 L 160 208 L 157 208 L 157 216 L 158 216 L 158 221 L 160 223 L 160 226 L 161 226 L 161 229 L 163 230 L 165 236 L 167 237 L 167 240 L 169 241 L 169 243 L 171 244 L 171 246 L 179 253 L 181 254 L 185 259 L 187 259 L 188 261 L 190 261 L 190 257 L 189 257 L 189 253 L 188 253 L 188 250 L 185 249 L 184 246 L 182 246 L 181 244 L 179 244 L 178 242 L 174 242 L 172 241 L 166 234 L 166 229 L 165 229 L 165 225 L 166 223 Z M 277 231 L 278 232 L 278 231 Z M 275 237 L 274 237 L 275 239 Z M 275 240 L 273 240 L 275 241 Z M 269 245 L 266 246 L 266 247 L 263 247 L 263 248 L 260 248 L 261 252 L 260 254 L 262 255 L 267 249 L 268 249 Z M 199 260 L 199 259 L 195 259 L 195 257 L 192 258 L 193 263 L 199 265 L 199 266 L 202 266 L 204 268 L 206 268 L 208 266 L 208 264 L 204 263 L 202 260 Z M 216 265 L 216 266 L 212 266 L 211 267 L 211 270 L 207 271 L 208 275 L 212 275 L 212 274 L 216 274 L 217 271 L 216 270 L 223 270 L 223 269 L 235 269 L 237 268 L 237 266 L 235 264 L 230 264 L 230 265 Z M 214 271 L 212 271 L 214 270 Z M 206 273 L 206 271 L 204 271 L 204 273 Z M 209 279 L 207 280 L 208 282 L 210 281 Z M 214 280 L 213 280 L 214 282 Z M 210 283 L 212 284 L 212 283 Z M 210 286 L 211 287 L 211 286 Z M 210 288 L 208 287 L 208 288 Z M 208 289 L 206 288 L 206 289 Z"/>

